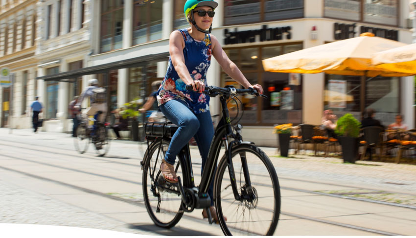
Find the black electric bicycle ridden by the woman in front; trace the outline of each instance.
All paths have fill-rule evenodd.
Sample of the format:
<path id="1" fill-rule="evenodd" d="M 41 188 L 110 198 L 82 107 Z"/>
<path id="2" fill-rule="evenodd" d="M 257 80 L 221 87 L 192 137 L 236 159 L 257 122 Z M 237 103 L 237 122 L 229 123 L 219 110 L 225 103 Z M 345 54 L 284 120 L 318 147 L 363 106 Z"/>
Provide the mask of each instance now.
<path id="1" fill-rule="evenodd" d="M 242 126 L 231 123 L 227 108 L 227 101 L 237 95 L 264 95 L 253 88 L 234 87 L 207 87 L 204 93 L 210 97 L 220 95 L 223 116 L 215 129 L 198 187 L 194 183 L 189 144 L 178 154 L 174 165 L 178 183 L 167 182 L 161 174 L 160 165 L 177 126 L 145 125 L 148 148 L 141 164 L 147 212 L 156 225 L 173 227 L 184 212 L 210 206 L 207 191 L 215 178 L 213 199 L 225 235 L 273 235 L 280 215 L 280 187 L 275 168 L 254 143 L 243 141 Z M 222 146 L 224 155 L 216 168 Z M 208 216 L 212 223 L 209 212 Z"/>

